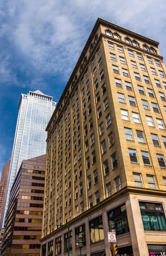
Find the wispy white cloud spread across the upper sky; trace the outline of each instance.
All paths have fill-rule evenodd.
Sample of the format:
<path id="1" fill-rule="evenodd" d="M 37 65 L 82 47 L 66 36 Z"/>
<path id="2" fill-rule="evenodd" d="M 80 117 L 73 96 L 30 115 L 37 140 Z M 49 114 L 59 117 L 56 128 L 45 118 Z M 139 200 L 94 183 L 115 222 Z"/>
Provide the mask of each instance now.
<path id="1" fill-rule="evenodd" d="M 67 79 L 98 17 L 160 40 L 166 25 L 166 3 L 158 0 L 1 0 L 1 38 L 7 38 L 8 55 L 15 67 L 26 70 L 30 79 L 62 76 Z M 5 14 L 5 15 L 4 15 Z M 166 54 L 165 50 L 162 50 Z M 24 86 L 17 79 L 13 59 L 6 56 L 0 66 L 3 81 Z M 19 61 L 22 67 L 19 67 Z M 8 64 L 11 64 L 11 68 Z M 26 73 L 26 71 L 25 71 Z M 33 74 L 33 78 L 31 78 Z M 26 84 L 26 82 L 25 82 Z M 33 84 L 33 82 L 32 82 Z"/>

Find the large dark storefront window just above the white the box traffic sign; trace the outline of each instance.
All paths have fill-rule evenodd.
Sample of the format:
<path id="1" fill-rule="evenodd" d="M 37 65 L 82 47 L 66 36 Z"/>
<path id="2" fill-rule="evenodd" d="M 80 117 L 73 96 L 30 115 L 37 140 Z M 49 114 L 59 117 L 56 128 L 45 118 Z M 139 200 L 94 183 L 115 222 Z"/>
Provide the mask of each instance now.
<path id="1" fill-rule="evenodd" d="M 116 236 L 129 232 L 126 205 L 123 204 L 107 213 L 109 231 L 115 232 Z"/>

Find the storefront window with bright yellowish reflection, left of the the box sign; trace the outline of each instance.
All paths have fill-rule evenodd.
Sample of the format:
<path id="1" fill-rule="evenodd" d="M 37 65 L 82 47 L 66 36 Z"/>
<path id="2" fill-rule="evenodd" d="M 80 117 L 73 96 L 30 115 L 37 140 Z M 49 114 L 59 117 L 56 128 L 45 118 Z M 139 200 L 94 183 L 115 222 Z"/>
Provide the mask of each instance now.
<path id="1" fill-rule="evenodd" d="M 90 243 L 104 240 L 102 215 L 89 221 Z"/>

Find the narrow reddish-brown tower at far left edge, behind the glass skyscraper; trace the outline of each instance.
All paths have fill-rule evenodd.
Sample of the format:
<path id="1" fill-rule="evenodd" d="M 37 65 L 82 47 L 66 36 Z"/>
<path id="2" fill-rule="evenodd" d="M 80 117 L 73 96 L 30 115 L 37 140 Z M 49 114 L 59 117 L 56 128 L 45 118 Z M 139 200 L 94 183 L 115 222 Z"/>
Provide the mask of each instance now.
<path id="1" fill-rule="evenodd" d="M 6 165 L 3 166 L 2 174 L 0 178 L 0 217 L 1 217 L 2 208 L 3 208 L 3 200 L 5 196 L 6 183 L 8 180 L 8 171 L 10 167 L 10 161 L 11 161 L 11 158 L 9 157 L 9 159 L 6 161 Z"/>

